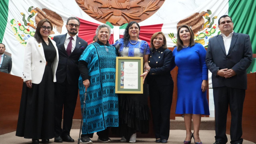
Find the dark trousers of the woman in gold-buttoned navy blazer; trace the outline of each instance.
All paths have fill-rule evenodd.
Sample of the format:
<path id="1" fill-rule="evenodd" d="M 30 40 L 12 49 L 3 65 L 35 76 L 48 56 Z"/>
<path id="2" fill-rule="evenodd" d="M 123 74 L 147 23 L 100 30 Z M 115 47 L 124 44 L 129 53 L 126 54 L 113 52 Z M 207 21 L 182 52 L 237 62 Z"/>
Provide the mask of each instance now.
<path id="1" fill-rule="evenodd" d="M 168 140 L 170 133 L 170 111 L 172 105 L 173 84 L 149 85 L 150 108 L 156 139 Z"/>

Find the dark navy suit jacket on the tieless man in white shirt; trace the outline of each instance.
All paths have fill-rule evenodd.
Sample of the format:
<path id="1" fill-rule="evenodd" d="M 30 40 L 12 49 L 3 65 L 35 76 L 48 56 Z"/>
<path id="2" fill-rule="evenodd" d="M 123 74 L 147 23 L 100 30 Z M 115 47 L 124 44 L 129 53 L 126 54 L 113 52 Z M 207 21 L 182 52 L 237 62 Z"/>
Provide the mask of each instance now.
<path id="1" fill-rule="evenodd" d="M 246 34 L 233 33 L 230 49 L 226 55 L 223 38 L 221 35 L 209 39 L 206 52 L 206 65 L 212 72 L 212 86 L 247 89 L 246 69 L 252 63 L 252 45 L 250 37 Z M 235 76 L 225 79 L 217 75 L 220 69 L 232 69 Z"/>

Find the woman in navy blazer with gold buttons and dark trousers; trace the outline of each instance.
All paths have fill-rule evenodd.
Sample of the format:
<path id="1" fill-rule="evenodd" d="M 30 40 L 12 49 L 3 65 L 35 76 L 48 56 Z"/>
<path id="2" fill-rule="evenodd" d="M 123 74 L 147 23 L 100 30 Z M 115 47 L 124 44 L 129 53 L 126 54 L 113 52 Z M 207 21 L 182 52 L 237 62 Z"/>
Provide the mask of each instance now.
<path id="1" fill-rule="evenodd" d="M 154 33 L 150 40 L 150 57 L 144 71 L 148 71 L 150 107 L 157 143 L 167 143 L 170 132 L 170 110 L 173 81 L 170 73 L 172 51 L 167 48 L 162 32 Z"/>

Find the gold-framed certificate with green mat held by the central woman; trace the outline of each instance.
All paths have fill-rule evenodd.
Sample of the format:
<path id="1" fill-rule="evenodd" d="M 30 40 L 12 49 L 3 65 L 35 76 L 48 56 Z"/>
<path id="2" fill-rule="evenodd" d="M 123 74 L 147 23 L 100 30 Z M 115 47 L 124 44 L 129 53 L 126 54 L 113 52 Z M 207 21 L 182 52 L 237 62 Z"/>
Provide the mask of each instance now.
<path id="1" fill-rule="evenodd" d="M 116 57 L 116 93 L 143 94 L 143 57 Z"/>

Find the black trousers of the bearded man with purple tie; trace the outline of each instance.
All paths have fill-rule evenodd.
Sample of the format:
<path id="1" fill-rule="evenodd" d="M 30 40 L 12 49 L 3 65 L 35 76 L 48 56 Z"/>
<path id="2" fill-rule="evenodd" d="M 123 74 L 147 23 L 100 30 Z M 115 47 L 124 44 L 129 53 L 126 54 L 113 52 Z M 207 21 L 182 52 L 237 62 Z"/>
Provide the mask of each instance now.
<path id="1" fill-rule="evenodd" d="M 70 135 L 78 95 L 78 84 L 55 83 L 55 136 Z M 62 110 L 63 129 L 61 128 Z"/>

